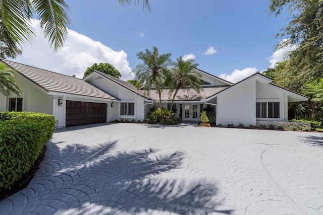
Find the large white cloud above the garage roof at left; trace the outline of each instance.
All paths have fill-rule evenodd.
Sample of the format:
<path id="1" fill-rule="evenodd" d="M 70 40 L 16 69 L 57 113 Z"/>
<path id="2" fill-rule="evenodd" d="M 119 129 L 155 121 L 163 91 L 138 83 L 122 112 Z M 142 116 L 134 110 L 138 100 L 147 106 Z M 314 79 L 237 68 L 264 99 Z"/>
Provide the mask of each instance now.
<path id="1" fill-rule="evenodd" d="M 68 76 L 75 74 L 77 78 L 82 78 L 86 68 L 93 63 L 107 62 L 120 71 L 122 80 L 133 79 L 127 54 L 123 50 L 115 51 L 85 35 L 68 30 L 63 51 L 55 53 L 44 38 L 39 22 L 33 20 L 32 27 L 36 31 L 36 39 L 31 46 L 23 48 L 23 54 L 17 57 L 18 62 Z"/>

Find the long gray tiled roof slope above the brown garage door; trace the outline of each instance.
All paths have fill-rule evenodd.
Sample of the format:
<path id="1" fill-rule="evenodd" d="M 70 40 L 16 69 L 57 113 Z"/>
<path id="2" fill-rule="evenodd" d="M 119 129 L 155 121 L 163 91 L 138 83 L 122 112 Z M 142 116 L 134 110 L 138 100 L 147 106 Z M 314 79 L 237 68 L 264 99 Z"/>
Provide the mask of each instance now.
<path id="1" fill-rule="evenodd" d="M 73 78 L 45 69 L 1 59 L 3 63 L 16 69 L 21 75 L 41 87 L 47 92 L 57 92 L 103 99 L 119 100 L 107 92 L 81 79 Z"/>

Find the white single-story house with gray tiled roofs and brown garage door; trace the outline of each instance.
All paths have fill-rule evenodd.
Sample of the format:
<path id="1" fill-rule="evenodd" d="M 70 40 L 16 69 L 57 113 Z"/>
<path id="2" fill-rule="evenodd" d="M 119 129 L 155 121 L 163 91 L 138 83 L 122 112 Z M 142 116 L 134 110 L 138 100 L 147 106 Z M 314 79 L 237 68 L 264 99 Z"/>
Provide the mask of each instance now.
<path id="1" fill-rule="evenodd" d="M 155 90 L 147 95 L 120 79 L 93 71 L 83 80 L 45 69 L 2 59 L 15 69 L 15 80 L 22 90 L 17 97 L 0 94 L 0 111 L 29 111 L 52 114 L 57 127 L 110 122 L 115 119 L 145 119 L 147 111 L 159 107 Z M 176 117 L 197 121 L 207 105 L 216 108 L 216 123 L 256 124 L 256 121 L 287 121 L 288 103 L 307 101 L 308 97 L 272 84 L 272 79 L 255 73 L 233 84 L 199 70 L 203 89 L 180 90 L 175 98 Z M 168 89 L 162 103 L 172 102 Z"/>

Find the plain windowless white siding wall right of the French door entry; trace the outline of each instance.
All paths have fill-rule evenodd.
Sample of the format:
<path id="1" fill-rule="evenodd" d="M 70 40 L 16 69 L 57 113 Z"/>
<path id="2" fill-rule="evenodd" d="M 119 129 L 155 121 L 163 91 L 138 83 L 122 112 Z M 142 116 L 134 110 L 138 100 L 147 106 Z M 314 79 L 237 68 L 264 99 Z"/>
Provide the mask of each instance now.
<path id="1" fill-rule="evenodd" d="M 218 96 L 217 124 L 256 124 L 256 81 L 250 80 Z"/>

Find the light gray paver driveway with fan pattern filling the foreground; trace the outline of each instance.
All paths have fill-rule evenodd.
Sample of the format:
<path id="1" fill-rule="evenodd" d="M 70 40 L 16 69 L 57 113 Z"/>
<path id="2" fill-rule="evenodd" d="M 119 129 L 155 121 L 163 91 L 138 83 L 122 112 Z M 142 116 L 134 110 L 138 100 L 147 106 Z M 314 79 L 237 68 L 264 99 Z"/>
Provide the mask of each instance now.
<path id="1" fill-rule="evenodd" d="M 323 214 L 322 137 L 187 124 L 58 129 L 0 213 Z"/>

